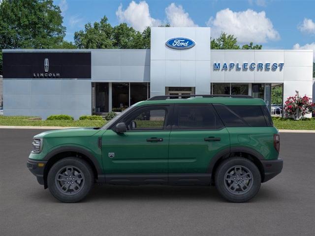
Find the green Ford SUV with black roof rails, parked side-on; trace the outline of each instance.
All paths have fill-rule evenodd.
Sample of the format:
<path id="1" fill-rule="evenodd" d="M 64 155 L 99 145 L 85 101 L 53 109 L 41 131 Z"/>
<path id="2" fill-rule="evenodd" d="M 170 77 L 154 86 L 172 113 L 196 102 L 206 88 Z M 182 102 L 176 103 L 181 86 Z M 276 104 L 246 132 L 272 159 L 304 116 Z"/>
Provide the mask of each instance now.
<path id="1" fill-rule="evenodd" d="M 278 175 L 280 139 L 266 104 L 250 96 L 155 96 L 101 128 L 34 136 L 27 167 L 58 200 L 93 184 L 215 185 L 246 202 Z"/>

